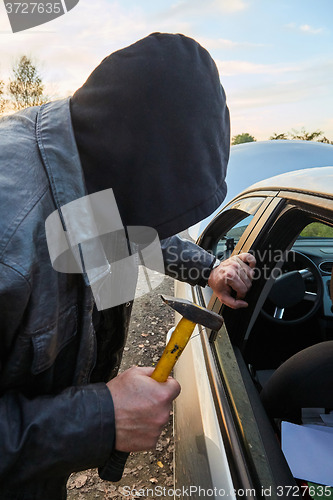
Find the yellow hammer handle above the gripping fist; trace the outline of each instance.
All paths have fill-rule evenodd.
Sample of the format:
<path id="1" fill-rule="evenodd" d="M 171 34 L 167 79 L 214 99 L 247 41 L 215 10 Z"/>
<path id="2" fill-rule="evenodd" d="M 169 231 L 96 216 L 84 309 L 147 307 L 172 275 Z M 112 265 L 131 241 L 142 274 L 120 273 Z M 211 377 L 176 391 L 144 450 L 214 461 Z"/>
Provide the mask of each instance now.
<path id="1" fill-rule="evenodd" d="M 182 318 L 175 330 L 172 332 L 169 342 L 153 371 L 151 378 L 157 382 L 165 382 L 170 375 L 177 359 L 186 347 L 187 342 L 193 333 L 196 323 L 189 319 Z"/>

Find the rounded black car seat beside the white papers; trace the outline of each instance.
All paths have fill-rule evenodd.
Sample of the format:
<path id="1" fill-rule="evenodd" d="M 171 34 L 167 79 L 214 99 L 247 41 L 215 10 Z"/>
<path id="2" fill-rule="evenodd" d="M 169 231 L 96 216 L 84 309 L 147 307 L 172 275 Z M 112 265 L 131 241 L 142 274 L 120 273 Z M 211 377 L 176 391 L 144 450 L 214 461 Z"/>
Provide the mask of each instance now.
<path id="1" fill-rule="evenodd" d="M 333 270 L 330 281 L 333 302 Z M 260 394 L 271 418 L 301 422 L 302 408 L 333 408 L 333 341 L 298 352 L 274 372 Z"/>

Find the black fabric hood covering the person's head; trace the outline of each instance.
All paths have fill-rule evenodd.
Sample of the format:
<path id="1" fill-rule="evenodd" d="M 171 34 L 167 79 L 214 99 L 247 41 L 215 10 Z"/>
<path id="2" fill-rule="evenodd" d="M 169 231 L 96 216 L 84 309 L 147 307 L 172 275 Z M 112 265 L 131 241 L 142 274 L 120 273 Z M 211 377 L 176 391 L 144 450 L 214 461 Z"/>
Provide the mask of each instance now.
<path id="1" fill-rule="evenodd" d="M 124 225 L 164 239 L 223 201 L 229 112 L 214 61 L 191 38 L 153 33 L 114 52 L 71 113 L 88 193 L 113 188 Z"/>

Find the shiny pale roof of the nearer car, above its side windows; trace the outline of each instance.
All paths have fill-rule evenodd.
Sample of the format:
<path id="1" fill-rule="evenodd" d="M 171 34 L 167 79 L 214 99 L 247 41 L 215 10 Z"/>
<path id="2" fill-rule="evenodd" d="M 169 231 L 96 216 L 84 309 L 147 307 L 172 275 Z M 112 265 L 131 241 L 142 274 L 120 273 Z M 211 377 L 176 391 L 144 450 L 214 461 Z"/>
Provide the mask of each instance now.
<path id="1" fill-rule="evenodd" d="M 333 166 L 317 167 L 275 175 L 257 182 L 243 193 L 249 191 L 288 190 L 333 198 Z"/>

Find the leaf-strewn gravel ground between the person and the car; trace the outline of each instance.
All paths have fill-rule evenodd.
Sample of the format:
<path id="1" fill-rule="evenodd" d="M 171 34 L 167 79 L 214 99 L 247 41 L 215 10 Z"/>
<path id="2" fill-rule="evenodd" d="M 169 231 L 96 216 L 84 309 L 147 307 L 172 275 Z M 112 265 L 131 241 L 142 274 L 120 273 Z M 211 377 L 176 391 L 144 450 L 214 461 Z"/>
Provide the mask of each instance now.
<path id="1" fill-rule="evenodd" d="M 160 294 L 173 295 L 171 278 L 165 277 L 155 290 L 136 299 L 121 370 L 132 365 L 154 366 L 162 354 L 166 333 L 174 324 L 174 313 L 162 302 Z M 102 481 L 96 470 L 72 474 L 67 484 L 68 500 L 145 498 L 137 494 L 139 490 L 153 490 L 157 486 L 167 492 L 173 486 L 173 448 L 171 414 L 156 450 L 132 453 L 121 481 Z M 149 500 L 155 498 L 152 493 Z M 173 497 L 166 494 L 162 498 L 171 500 Z"/>

